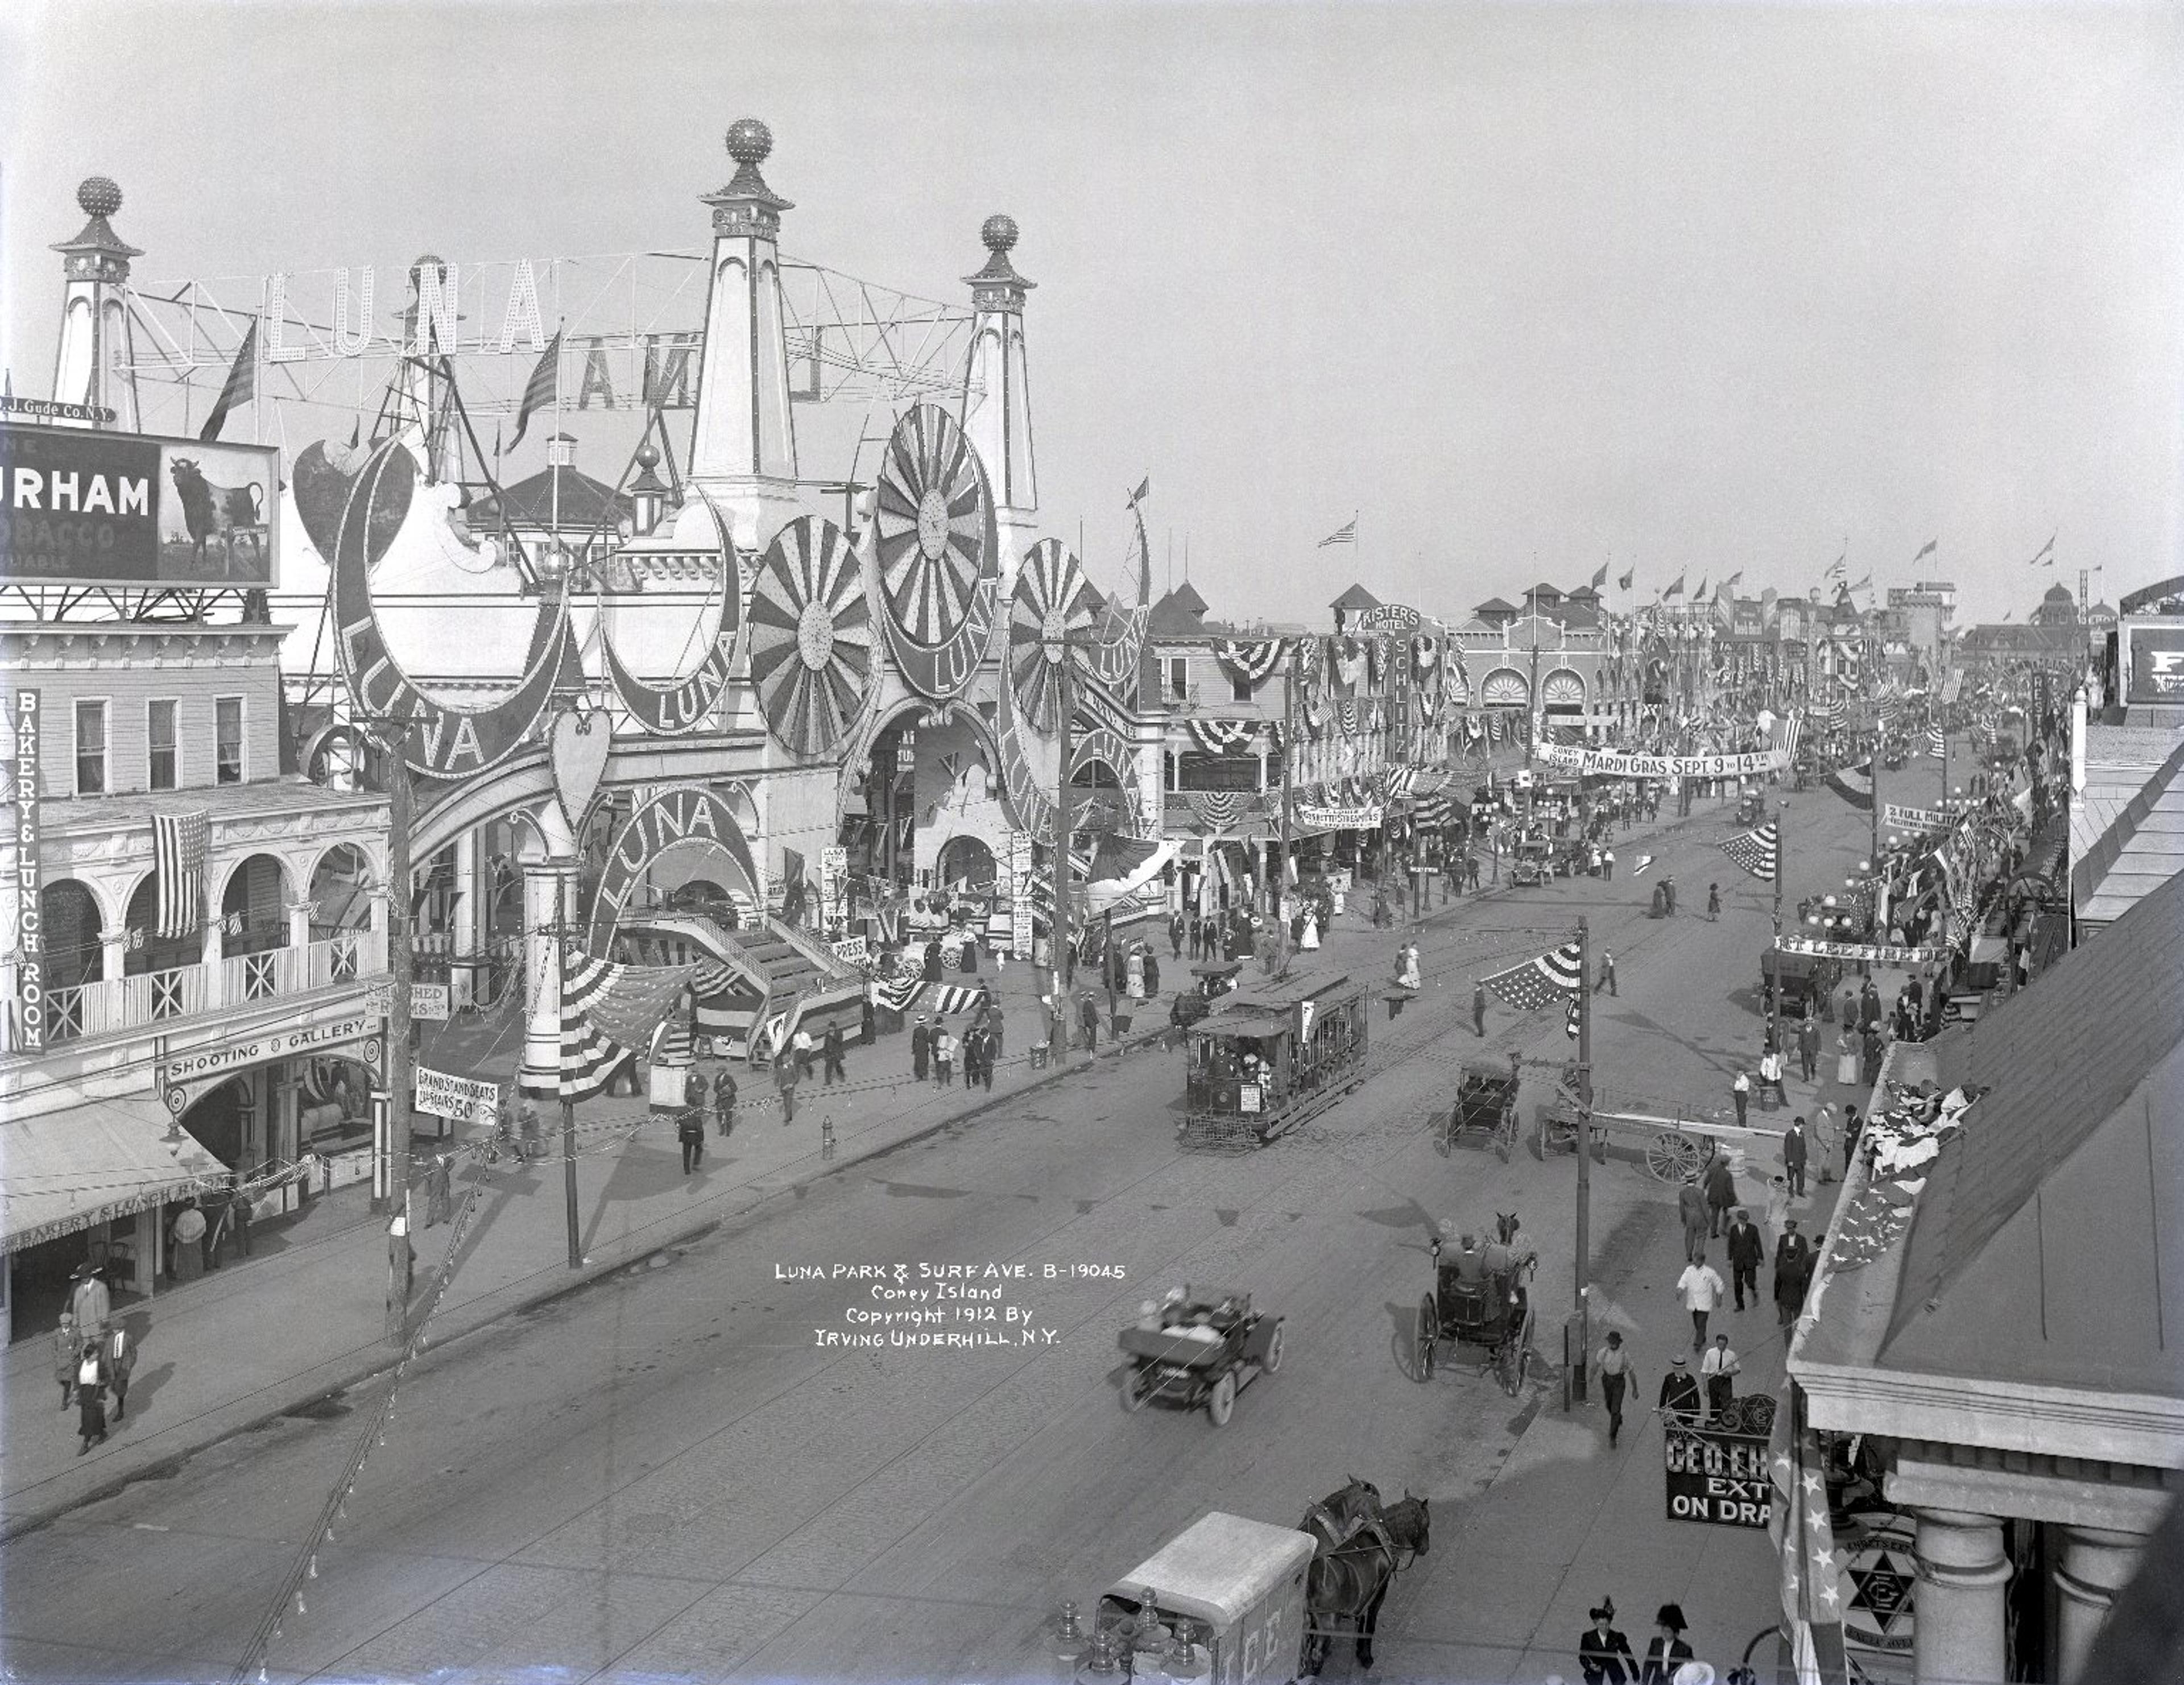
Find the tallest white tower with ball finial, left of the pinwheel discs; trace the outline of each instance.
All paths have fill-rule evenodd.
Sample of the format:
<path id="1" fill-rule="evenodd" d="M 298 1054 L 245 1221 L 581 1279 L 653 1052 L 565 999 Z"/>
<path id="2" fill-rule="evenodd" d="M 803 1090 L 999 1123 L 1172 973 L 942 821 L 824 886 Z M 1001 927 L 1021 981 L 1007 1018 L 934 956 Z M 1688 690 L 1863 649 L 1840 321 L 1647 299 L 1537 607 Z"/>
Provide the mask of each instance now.
<path id="1" fill-rule="evenodd" d="M 788 410 L 788 343 L 782 312 L 782 212 L 758 166 L 773 133 L 758 118 L 727 131 L 736 179 L 712 205 L 712 284 L 697 380 L 690 480 L 727 513 L 740 550 L 764 548 L 797 502 L 797 428 Z"/>

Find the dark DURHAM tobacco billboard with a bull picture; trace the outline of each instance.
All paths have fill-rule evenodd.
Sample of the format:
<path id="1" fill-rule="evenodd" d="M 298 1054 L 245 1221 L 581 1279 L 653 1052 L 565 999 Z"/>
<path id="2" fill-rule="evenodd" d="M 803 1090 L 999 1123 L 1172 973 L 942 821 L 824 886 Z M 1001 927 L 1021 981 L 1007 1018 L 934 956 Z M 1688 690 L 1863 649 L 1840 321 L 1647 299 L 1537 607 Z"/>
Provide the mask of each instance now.
<path id="1" fill-rule="evenodd" d="M 280 583 L 271 445 L 0 419 L 0 583 Z"/>

